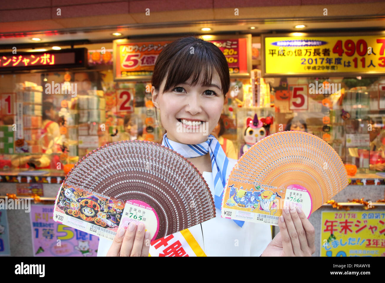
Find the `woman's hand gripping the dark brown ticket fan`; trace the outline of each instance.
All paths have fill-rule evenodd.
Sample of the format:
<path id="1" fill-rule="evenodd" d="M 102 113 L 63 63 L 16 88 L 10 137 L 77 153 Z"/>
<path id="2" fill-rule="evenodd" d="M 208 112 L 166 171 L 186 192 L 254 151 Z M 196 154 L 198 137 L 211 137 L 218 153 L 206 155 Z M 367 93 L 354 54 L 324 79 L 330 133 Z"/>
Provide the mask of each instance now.
<path id="1" fill-rule="evenodd" d="M 130 223 L 127 230 L 119 228 L 106 256 L 148 256 L 150 250 L 150 232 L 144 224 Z"/>

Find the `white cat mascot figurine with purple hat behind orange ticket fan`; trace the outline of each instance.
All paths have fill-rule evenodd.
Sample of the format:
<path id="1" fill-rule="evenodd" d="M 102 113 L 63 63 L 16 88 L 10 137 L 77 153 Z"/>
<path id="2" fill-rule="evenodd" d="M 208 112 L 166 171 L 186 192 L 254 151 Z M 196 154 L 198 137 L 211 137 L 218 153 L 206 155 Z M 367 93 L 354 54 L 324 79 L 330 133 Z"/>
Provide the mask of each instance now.
<path id="1" fill-rule="evenodd" d="M 264 137 L 269 136 L 271 124 L 273 124 L 273 117 L 266 117 L 258 120 L 258 116 L 255 114 L 254 119 L 251 119 L 251 117 L 246 119 L 246 130 L 243 133 L 243 139 L 246 144 L 241 147 L 240 156 L 253 146 L 253 144 Z"/>

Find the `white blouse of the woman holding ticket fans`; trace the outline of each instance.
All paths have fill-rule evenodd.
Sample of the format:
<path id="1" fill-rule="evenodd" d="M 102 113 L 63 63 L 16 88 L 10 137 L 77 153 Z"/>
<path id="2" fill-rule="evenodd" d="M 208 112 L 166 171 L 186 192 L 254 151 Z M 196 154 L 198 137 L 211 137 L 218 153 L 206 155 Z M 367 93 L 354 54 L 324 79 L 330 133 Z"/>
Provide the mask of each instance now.
<path id="1" fill-rule="evenodd" d="M 235 159 L 229 158 L 230 170 L 226 178 L 229 177 L 235 163 Z M 205 171 L 203 178 L 214 198 L 213 173 Z M 201 224 L 188 229 L 207 256 L 260 256 L 271 242 L 270 225 L 245 222 L 239 227 L 232 219 L 221 218 L 221 211 L 218 208 L 215 218 Z M 99 238 L 97 256 L 107 255 L 111 243 L 112 241 Z"/>

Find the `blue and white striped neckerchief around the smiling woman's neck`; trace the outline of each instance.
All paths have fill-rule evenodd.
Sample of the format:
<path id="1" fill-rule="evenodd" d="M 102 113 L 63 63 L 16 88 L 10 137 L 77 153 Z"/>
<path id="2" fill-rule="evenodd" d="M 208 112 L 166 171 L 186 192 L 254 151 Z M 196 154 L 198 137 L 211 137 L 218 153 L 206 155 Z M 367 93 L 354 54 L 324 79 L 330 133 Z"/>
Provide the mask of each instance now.
<path id="1" fill-rule="evenodd" d="M 210 153 L 214 180 L 214 204 L 216 208 L 221 210 L 229 159 L 224 153 L 221 144 L 219 144 L 218 139 L 213 135 L 208 135 L 207 141 L 200 144 L 182 144 L 168 139 L 166 133 L 163 136 L 162 146 L 169 147 L 186 158 L 203 156 L 208 152 Z M 244 224 L 244 221 L 241 220 L 234 220 L 234 222 L 239 227 L 242 227 Z"/>

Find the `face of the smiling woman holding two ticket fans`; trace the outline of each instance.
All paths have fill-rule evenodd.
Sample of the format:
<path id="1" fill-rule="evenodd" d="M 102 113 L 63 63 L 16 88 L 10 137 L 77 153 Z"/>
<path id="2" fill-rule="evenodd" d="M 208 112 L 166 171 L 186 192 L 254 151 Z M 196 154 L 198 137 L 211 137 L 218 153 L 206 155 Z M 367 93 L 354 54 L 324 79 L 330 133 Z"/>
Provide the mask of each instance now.
<path id="1" fill-rule="evenodd" d="M 217 72 L 213 73 L 211 86 L 199 83 L 189 86 L 191 78 L 162 94 L 166 78 L 159 87 L 151 89 L 152 102 L 159 109 L 167 138 L 184 144 L 199 144 L 207 140 L 219 121 L 224 95 Z"/>

